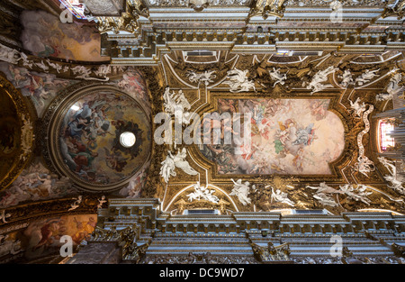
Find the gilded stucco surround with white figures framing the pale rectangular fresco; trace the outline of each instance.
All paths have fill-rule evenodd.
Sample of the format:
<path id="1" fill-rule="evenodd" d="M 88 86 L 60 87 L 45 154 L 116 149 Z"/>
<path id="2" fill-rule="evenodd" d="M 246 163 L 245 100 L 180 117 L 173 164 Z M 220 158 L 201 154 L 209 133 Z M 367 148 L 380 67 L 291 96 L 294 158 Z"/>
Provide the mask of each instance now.
<path id="1" fill-rule="evenodd" d="M 223 57 L 221 58 L 221 56 Z M 334 141 L 334 146 L 339 148 L 334 151 L 330 149 L 333 148 L 333 145 L 327 146 L 330 154 L 325 159 L 328 171 L 312 170 L 305 174 L 302 170 L 297 170 L 293 176 L 291 171 L 283 173 L 283 166 L 280 162 L 282 159 L 278 159 L 277 161 L 280 163 L 277 162 L 278 165 L 275 164 L 271 168 L 264 166 L 263 168 L 266 169 L 261 172 L 259 170 L 247 172 L 248 155 L 241 155 L 241 158 L 245 160 L 244 165 L 238 161 L 232 166 L 232 161 L 230 161 L 233 158 L 232 154 L 229 153 L 230 151 L 227 152 L 225 147 L 215 145 L 210 150 L 202 150 L 205 145 L 184 145 L 190 154 L 187 161 L 198 174 L 195 177 L 186 177 L 184 174 L 170 177 L 167 183 L 169 185 L 164 188 L 165 192 L 162 194 L 164 197 L 161 198 L 164 201 L 164 207 L 172 210 L 175 209 L 175 206 L 181 206 L 180 210 L 184 210 L 187 197 L 184 192 L 181 195 L 178 195 L 178 192 L 183 190 L 184 186 L 199 181 L 202 186 L 220 187 L 237 205 L 239 211 L 324 208 L 331 213 L 338 214 L 373 207 L 401 210 L 402 196 L 389 188 L 386 179 L 381 176 L 381 167 L 373 150 L 376 140 L 370 139 L 370 136 L 374 136 L 376 131 L 371 115 L 379 113 L 383 108 L 390 106 L 389 103 L 392 103 L 391 99 L 379 99 L 378 95 L 386 90 L 385 82 L 394 86 L 394 75 L 401 73 L 400 68 L 392 72 L 390 67 L 394 63 L 391 58 L 396 56 L 395 52 L 387 53 L 384 54 L 385 59 L 381 60 L 378 57 L 366 58 L 356 54 L 343 57 L 333 52 L 319 57 L 297 57 L 296 59 L 268 55 L 222 54 L 216 63 L 199 65 L 184 62 L 180 56 L 166 55 L 164 68 L 166 68 L 167 86 L 183 93 L 191 105 L 188 110 L 191 113 L 218 112 L 221 114 L 229 112 L 230 109 L 238 111 L 240 105 L 245 105 L 247 101 L 257 101 L 257 111 L 252 111 L 253 115 L 256 113 L 258 116 L 260 113 L 258 110 L 262 105 L 260 101 L 273 101 L 273 103 L 278 101 L 281 106 L 289 99 L 292 103 L 294 101 L 298 103 L 299 99 L 307 99 L 305 101 L 313 104 L 312 107 L 309 107 L 312 109 L 311 113 L 314 114 L 313 121 L 322 121 L 325 114 L 336 117 L 337 123 L 333 123 L 335 125 L 328 124 L 333 134 L 340 134 L 340 137 L 331 137 L 327 134 L 324 135 L 325 140 L 321 141 L 322 143 Z M 365 59 L 369 60 L 369 64 L 365 64 Z M 279 64 L 280 62 L 283 64 Z M 250 91 L 232 91 L 232 86 L 228 83 L 229 71 L 232 69 L 247 69 L 248 71 L 244 72 L 246 77 L 242 80 L 254 82 L 257 92 L 252 91 L 253 88 Z M 375 84 L 376 81 L 381 89 Z M 311 83 L 314 87 L 311 87 Z M 369 89 L 372 87 L 377 88 L 370 91 Z M 394 88 L 398 87 L 394 86 Z M 400 90 L 396 92 L 396 96 L 400 96 L 400 94 Z M 253 100 L 253 96 L 256 100 Z M 269 111 L 268 114 L 273 110 L 272 116 L 274 116 L 277 113 L 276 106 L 277 103 L 268 108 L 265 107 Z M 246 108 L 255 109 L 255 106 Z M 282 108 L 280 108 L 281 111 Z M 302 111 L 293 112 L 302 114 Z M 298 120 L 304 121 L 302 118 Z M 257 123 L 255 117 L 252 118 L 252 121 Z M 257 133 L 267 127 L 270 130 L 272 119 L 266 123 L 266 119 L 262 117 L 261 121 L 265 121 L 265 123 L 257 123 L 253 129 L 257 126 Z M 275 122 L 273 121 L 273 123 Z M 296 129 L 293 135 L 289 136 L 292 148 L 298 144 L 301 144 L 302 149 L 308 146 L 311 148 L 312 142 L 319 141 L 320 136 L 317 134 L 322 134 L 321 127 L 314 123 L 310 131 L 309 124 L 301 126 L 298 123 L 295 124 Z M 274 124 L 279 133 L 283 132 L 284 128 L 291 127 L 290 125 Z M 185 126 L 183 126 L 184 128 Z M 302 131 L 302 134 L 304 132 L 305 134 L 298 138 L 300 128 L 308 131 Z M 271 133 L 271 130 L 267 133 L 268 137 L 271 135 L 271 140 L 273 140 L 274 133 Z M 257 141 L 256 146 L 263 144 L 263 140 Z M 288 149 L 289 147 L 285 146 L 286 143 L 283 144 L 281 142 L 278 147 L 276 143 L 273 144 L 278 152 L 275 156 L 285 150 L 284 153 L 287 157 L 292 156 L 292 164 L 297 165 L 299 157 L 292 154 L 292 148 Z M 162 145 L 162 147 L 164 149 L 166 146 Z M 170 146 L 166 148 L 170 148 Z M 211 153 L 208 154 L 208 152 Z M 263 152 L 260 155 L 264 156 Z M 312 157 L 309 157 L 310 155 Z M 312 152 L 310 155 L 303 156 L 302 161 L 311 161 L 318 155 L 326 157 L 325 153 Z M 228 167 L 225 169 L 221 163 Z M 251 168 L 260 167 L 259 163 L 253 164 Z M 314 164 L 317 169 L 320 169 L 320 160 L 314 161 Z M 245 170 L 241 169 L 241 166 Z M 310 169 L 311 165 L 303 165 L 302 168 Z M 240 188 L 244 186 L 244 183 L 248 183 L 245 187 L 249 189 Z M 324 189 L 322 187 L 326 190 L 322 190 Z M 183 200 L 179 200 L 182 197 Z M 168 206 L 171 201 L 177 205 Z M 232 209 L 232 205 L 229 208 Z"/>

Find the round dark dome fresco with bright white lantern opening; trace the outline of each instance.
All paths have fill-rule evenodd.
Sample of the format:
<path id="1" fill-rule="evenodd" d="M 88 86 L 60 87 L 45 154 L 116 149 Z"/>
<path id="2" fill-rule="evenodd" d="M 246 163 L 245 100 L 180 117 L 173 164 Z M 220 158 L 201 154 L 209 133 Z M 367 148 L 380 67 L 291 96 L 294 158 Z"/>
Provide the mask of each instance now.
<path id="1" fill-rule="evenodd" d="M 59 150 L 70 175 L 86 184 L 112 186 L 133 176 L 148 159 L 151 129 L 140 105 L 121 92 L 94 91 L 60 119 Z M 121 143 L 130 132 L 132 146 Z"/>

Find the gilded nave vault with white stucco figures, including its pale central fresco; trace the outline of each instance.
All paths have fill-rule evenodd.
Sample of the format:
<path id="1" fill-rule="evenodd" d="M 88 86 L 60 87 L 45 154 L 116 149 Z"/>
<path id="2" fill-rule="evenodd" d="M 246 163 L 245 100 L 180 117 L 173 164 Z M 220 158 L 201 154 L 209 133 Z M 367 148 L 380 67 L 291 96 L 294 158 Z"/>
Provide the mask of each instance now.
<path id="1" fill-rule="evenodd" d="M 393 51 L 382 56 L 326 53 L 291 58 L 225 52 L 207 64 L 185 62 L 188 58 L 181 51 L 166 55 L 162 68 L 170 86 L 166 90 L 183 93 L 191 105 L 188 112 L 200 116 L 248 113 L 252 127 L 247 151 L 233 142 L 224 144 L 223 125 L 220 144 L 166 145 L 173 156 L 181 156 L 184 148 L 194 171 L 175 168 L 175 176 L 157 185 L 164 208 L 181 209 L 181 204 L 190 202 L 188 197 L 193 197 L 198 182 L 240 211 L 292 206 L 326 208 L 338 214 L 353 208 L 400 211 L 401 194 L 387 189 L 386 168 L 377 159 L 377 121 L 372 118 L 392 107 L 391 99 L 378 95 L 401 71 L 398 55 L 402 56 Z M 237 82 L 232 80 L 235 71 L 240 78 Z M 373 75 L 365 78 L 368 73 Z M 363 105 L 360 112 L 357 103 Z M 159 153 L 163 158 L 152 162 L 170 159 L 166 149 Z M 238 180 L 248 186 L 245 198 L 235 192 Z M 331 188 L 329 204 L 317 195 L 321 183 Z M 368 190 L 356 200 L 342 191 L 347 185 L 367 186 Z M 289 195 L 290 201 L 277 202 L 277 189 Z M 397 201 L 392 202 L 394 198 Z"/>

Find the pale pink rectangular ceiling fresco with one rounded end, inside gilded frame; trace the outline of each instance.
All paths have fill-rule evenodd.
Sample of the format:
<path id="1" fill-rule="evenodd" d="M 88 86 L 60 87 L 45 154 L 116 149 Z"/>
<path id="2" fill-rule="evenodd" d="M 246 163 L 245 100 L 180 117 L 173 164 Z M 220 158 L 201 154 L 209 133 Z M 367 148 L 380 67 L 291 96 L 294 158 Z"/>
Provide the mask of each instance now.
<path id="1" fill-rule="evenodd" d="M 220 174 L 329 175 L 344 150 L 344 126 L 329 99 L 219 99 L 219 114 L 250 113 L 250 150 L 204 144 Z"/>

